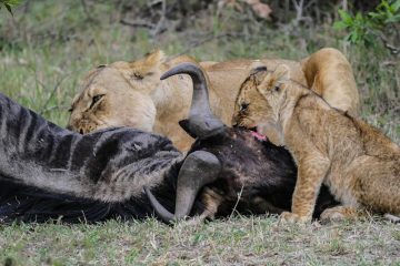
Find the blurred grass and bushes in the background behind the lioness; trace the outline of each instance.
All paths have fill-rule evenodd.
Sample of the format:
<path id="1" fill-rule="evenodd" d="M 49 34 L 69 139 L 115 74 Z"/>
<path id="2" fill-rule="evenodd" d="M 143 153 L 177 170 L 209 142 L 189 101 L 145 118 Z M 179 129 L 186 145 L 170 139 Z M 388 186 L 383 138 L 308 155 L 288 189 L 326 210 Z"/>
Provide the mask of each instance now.
<path id="1" fill-rule="evenodd" d="M 350 60 L 363 116 L 400 135 L 400 0 L 1 0 L 0 91 L 64 125 L 90 69 L 160 48 L 199 60 Z M 14 6 L 13 6 L 14 4 Z M 11 8 L 13 17 L 7 11 Z"/>

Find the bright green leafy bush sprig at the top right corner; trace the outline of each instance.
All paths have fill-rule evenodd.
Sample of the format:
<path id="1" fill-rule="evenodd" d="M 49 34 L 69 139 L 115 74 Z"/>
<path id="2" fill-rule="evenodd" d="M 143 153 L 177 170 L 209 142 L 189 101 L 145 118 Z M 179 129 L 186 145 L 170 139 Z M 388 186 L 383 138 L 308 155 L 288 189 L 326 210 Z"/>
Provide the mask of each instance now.
<path id="1" fill-rule="evenodd" d="M 348 29 L 347 40 L 351 43 L 370 45 L 377 37 L 382 39 L 388 29 L 400 22 L 400 0 L 382 0 L 373 12 L 367 14 L 357 12 L 352 16 L 339 10 L 339 16 L 340 20 L 334 22 L 334 29 Z"/>

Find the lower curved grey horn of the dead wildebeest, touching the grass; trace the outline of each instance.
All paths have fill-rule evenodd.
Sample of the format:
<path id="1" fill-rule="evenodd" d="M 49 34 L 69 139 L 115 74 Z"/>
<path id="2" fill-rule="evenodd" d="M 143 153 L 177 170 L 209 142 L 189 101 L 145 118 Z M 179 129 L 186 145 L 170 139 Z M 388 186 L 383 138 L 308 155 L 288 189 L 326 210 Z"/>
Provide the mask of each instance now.
<path id="1" fill-rule="evenodd" d="M 178 175 L 174 214 L 168 212 L 148 187 L 144 187 L 144 192 L 156 213 L 164 222 L 181 219 L 190 214 L 199 190 L 206 184 L 216 181 L 220 171 L 221 163 L 212 153 L 196 151 L 189 154 Z"/>

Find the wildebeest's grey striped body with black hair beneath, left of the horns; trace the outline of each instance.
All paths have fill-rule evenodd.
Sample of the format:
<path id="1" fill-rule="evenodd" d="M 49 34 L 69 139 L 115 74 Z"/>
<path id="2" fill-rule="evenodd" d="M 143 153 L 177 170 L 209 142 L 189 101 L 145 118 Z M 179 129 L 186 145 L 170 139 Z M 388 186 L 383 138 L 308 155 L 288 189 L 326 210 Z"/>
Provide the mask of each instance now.
<path id="1" fill-rule="evenodd" d="M 181 164 L 166 137 L 124 127 L 81 135 L 0 93 L 0 222 L 147 217 L 143 185 L 172 209 Z"/>

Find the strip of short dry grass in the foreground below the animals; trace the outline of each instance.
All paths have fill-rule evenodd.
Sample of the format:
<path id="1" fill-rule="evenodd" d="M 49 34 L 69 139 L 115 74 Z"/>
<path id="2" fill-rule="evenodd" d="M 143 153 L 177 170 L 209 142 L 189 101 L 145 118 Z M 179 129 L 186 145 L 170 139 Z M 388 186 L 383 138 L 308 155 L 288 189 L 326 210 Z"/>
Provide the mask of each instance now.
<path id="1" fill-rule="evenodd" d="M 154 219 L 0 227 L 13 265 L 400 265 L 400 228 L 367 219 L 284 226 L 234 217 L 167 226 Z"/>

